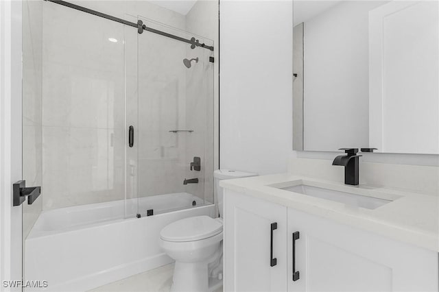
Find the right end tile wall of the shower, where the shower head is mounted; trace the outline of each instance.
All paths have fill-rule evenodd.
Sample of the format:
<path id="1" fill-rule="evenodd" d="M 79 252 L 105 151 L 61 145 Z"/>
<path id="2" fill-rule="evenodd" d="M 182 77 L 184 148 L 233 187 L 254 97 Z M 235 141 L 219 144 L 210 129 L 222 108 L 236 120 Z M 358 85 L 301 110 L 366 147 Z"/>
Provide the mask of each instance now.
<path id="1" fill-rule="evenodd" d="M 212 70 L 214 64 L 208 62 L 209 56 L 214 56 L 217 53 L 218 46 L 213 43 L 216 32 L 218 31 L 218 21 L 213 15 L 218 14 L 217 1 L 197 1 L 193 8 L 186 15 L 186 29 L 188 32 L 193 32 L 199 36 L 204 36 L 206 43 L 211 43 L 215 47 L 214 52 L 204 49 L 198 50 L 200 58 L 203 58 L 204 70 L 197 71 L 195 74 L 187 72 L 187 104 L 196 104 L 195 112 L 191 114 L 188 112 L 187 123 L 192 125 L 204 126 L 204 135 L 200 136 L 200 140 L 188 141 L 187 158 L 190 160 L 193 156 L 201 156 L 202 159 L 202 174 L 204 174 L 204 185 L 189 186 L 187 191 L 202 197 L 206 202 L 213 203 L 213 170 L 214 170 L 214 100 L 213 95 L 217 94 L 214 90 L 216 86 L 216 79 Z M 188 54 L 191 53 L 188 51 Z M 188 55 L 190 56 L 190 55 Z M 198 75 L 197 75 L 198 74 Z M 195 80 L 203 80 L 204 84 L 200 84 Z M 190 106 L 188 107 L 190 108 Z M 201 130 L 201 129 L 200 129 Z M 203 141 L 204 149 L 200 149 L 200 144 L 197 141 Z M 201 152 L 201 153 L 200 153 Z M 187 177 L 193 175 L 194 171 L 187 170 Z M 201 173 L 200 173 L 201 175 Z M 200 178 L 202 178 L 200 176 Z"/>

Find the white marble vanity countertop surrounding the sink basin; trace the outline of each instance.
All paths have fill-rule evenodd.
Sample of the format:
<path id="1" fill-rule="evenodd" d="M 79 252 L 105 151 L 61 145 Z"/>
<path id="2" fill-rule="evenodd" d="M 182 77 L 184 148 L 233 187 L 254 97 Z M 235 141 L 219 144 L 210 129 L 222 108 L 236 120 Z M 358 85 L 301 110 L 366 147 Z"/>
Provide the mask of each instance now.
<path id="1" fill-rule="evenodd" d="M 371 210 L 279 188 L 292 186 L 293 181 L 296 180 L 302 180 L 301 183 L 303 184 L 368 197 L 390 199 L 393 202 Z M 288 208 L 294 208 L 348 226 L 374 232 L 396 241 L 403 241 L 439 252 L 439 197 L 433 195 L 422 195 L 365 184 L 347 186 L 340 182 L 319 180 L 289 173 L 221 180 L 219 185 L 237 193 L 265 199 Z"/>

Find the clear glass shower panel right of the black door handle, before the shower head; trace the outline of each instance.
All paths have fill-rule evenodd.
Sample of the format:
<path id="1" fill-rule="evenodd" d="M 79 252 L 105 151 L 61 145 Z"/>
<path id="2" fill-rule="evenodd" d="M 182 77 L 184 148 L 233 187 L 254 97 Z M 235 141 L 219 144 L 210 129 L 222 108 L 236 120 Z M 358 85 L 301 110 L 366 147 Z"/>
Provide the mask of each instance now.
<path id="1" fill-rule="evenodd" d="M 139 20 L 161 32 L 213 45 L 180 29 Z M 139 213 L 203 205 L 206 167 L 213 172 L 213 51 L 147 31 L 137 38 Z M 213 183 L 208 184 L 213 202 Z"/>

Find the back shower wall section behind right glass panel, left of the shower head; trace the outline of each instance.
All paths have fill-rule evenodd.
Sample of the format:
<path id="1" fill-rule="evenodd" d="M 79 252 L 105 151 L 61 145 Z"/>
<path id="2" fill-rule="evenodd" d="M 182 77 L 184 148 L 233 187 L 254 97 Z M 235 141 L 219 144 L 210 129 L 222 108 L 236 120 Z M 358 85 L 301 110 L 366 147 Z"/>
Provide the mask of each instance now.
<path id="1" fill-rule="evenodd" d="M 145 19 L 143 22 L 165 29 Z M 185 47 L 156 34 L 139 38 L 139 197 L 185 191 L 189 137 L 186 132 L 169 132 L 187 128 Z"/>

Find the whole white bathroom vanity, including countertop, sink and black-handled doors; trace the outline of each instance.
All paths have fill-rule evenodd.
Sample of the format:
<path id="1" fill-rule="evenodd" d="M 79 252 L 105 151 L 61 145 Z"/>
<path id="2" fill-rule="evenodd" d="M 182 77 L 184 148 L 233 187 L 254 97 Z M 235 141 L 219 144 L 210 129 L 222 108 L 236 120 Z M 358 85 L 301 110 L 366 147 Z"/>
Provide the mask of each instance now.
<path id="1" fill-rule="evenodd" d="M 438 197 L 293 174 L 220 182 L 224 291 L 438 291 Z"/>

